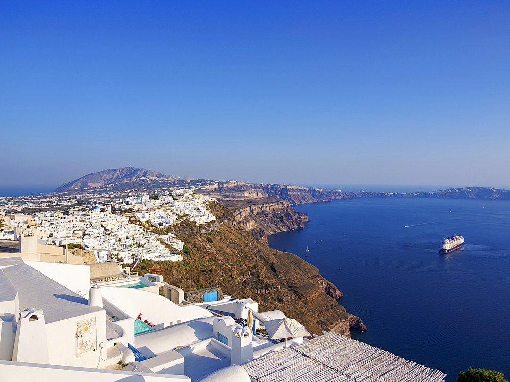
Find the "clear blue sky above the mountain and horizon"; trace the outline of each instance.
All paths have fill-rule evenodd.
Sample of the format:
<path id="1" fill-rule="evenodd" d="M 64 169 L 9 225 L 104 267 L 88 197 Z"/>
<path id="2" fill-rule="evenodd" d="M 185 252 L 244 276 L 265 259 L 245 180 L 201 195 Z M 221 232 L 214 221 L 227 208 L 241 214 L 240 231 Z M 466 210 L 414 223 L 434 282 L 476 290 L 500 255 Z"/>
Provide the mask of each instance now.
<path id="1" fill-rule="evenodd" d="M 4 2 L 3 187 L 510 188 L 507 1 Z"/>

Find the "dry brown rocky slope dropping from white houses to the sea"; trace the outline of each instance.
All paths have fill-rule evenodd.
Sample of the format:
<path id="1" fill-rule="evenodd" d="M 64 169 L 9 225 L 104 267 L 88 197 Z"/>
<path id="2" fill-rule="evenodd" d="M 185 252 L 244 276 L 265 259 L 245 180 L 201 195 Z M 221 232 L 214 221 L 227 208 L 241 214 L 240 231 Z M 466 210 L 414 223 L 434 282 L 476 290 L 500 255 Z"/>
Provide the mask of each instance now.
<path id="1" fill-rule="evenodd" d="M 350 337 L 351 322 L 355 324 L 357 317 L 351 318 L 330 296 L 341 293 L 316 267 L 254 240 L 221 203 L 211 202 L 208 208 L 215 222 L 197 227 L 184 221 L 166 228 L 185 242 L 184 261 L 142 260 L 136 270 L 162 274 L 166 282 L 185 291 L 220 286 L 232 297 L 253 298 L 259 311 L 281 310 L 312 334 L 334 330 Z"/>

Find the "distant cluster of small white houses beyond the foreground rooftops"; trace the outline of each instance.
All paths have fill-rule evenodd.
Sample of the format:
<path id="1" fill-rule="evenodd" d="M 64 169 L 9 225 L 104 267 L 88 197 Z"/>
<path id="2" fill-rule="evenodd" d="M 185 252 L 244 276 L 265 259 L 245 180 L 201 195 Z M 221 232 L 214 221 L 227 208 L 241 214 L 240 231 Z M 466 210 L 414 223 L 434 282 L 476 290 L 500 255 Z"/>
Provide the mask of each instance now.
<path id="1" fill-rule="evenodd" d="M 207 210 L 213 200 L 191 189 L 177 189 L 164 190 L 161 195 L 101 194 L 4 202 L 0 240 L 18 240 L 22 229 L 31 227 L 39 244 L 80 245 L 92 251 L 97 262 L 180 261 L 184 243 L 171 232 L 155 230 L 183 220 L 197 225 L 215 220 Z M 26 209 L 34 212 L 16 213 Z"/>

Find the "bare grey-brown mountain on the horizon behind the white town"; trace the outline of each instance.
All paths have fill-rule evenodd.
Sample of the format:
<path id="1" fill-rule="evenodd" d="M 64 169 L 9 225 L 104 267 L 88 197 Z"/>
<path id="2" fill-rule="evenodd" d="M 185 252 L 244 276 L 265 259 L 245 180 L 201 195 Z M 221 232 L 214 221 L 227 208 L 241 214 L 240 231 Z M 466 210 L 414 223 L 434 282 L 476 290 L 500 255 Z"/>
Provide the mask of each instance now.
<path id="1" fill-rule="evenodd" d="M 121 169 L 108 169 L 98 173 L 91 173 L 73 180 L 72 182 L 62 184 L 55 192 L 69 192 L 75 189 L 97 188 L 118 183 L 144 182 L 152 180 L 189 180 L 193 178 L 177 178 L 170 175 L 158 173 L 147 169 L 137 169 L 135 167 L 123 167 Z"/>

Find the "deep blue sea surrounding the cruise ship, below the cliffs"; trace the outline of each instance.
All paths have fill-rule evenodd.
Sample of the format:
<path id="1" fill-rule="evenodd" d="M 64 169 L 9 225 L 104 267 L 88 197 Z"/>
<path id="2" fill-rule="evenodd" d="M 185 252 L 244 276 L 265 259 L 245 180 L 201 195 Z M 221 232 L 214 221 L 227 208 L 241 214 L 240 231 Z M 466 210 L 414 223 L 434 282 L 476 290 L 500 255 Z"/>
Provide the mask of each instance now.
<path id="1" fill-rule="evenodd" d="M 510 201 L 359 198 L 295 209 L 308 214 L 305 229 L 271 235 L 269 245 L 344 293 L 339 303 L 368 327 L 353 338 L 448 382 L 469 367 L 510 377 Z M 463 248 L 439 254 L 453 234 Z"/>

